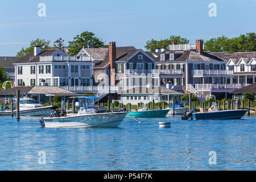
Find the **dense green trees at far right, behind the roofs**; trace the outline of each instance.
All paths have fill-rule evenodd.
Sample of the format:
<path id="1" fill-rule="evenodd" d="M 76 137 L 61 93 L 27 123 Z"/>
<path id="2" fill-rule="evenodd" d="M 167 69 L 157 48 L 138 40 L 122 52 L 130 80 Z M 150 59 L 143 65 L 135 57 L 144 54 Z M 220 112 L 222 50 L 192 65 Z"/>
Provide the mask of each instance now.
<path id="1" fill-rule="evenodd" d="M 237 38 L 220 36 L 205 42 L 205 50 L 211 52 L 253 52 L 256 51 L 256 34 L 254 32 Z"/>

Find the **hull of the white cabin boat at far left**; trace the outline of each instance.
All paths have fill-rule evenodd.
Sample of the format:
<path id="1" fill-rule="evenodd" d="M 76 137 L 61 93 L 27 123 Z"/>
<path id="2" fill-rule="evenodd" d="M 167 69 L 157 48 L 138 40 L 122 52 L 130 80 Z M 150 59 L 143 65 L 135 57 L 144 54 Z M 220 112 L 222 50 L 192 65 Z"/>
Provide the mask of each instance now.
<path id="1" fill-rule="evenodd" d="M 45 106 L 45 107 L 38 107 L 32 109 L 20 109 L 19 115 L 20 116 L 49 116 L 54 110 L 56 106 Z M 13 114 L 16 115 L 16 110 L 13 111 Z M 11 115 L 11 110 L 0 111 L 0 115 Z"/>

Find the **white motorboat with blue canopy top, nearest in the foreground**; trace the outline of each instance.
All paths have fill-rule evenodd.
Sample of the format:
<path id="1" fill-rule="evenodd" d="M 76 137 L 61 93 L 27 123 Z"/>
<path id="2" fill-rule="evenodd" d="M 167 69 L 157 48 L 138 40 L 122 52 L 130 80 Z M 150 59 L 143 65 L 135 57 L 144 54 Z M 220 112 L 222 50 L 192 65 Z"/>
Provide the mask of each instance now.
<path id="1" fill-rule="evenodd" d="M 73 97 L 75 98 L 75 97 Z M 96 96 L 76 97 L 79 100 L 77 114 L 67 114 L 61 117 L 52 113 L 49 118 L 42 118 L 43 127 L 118 127 L 127 114 L 126 111 L 114 113 L 97 113 L 95 109 Z"/>

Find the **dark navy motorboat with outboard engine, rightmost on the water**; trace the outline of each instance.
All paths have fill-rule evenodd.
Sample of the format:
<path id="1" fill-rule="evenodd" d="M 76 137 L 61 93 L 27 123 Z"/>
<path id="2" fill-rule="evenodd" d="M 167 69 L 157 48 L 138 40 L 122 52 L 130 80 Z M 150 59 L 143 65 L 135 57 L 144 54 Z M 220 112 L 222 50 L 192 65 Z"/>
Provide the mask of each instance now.
<path id="1" fill-rule="evenodd" d="M 247 109 L 236 110 L 218 110 L 216 102 L 213 102 L 209 110 L 200 108 L 200 113 L 196 113 L 194 109 L 189 111 L 188 115 L 184 115 L 181 119 L 210 120 L 210 119 L 240 119 L 245 115 Z"/>

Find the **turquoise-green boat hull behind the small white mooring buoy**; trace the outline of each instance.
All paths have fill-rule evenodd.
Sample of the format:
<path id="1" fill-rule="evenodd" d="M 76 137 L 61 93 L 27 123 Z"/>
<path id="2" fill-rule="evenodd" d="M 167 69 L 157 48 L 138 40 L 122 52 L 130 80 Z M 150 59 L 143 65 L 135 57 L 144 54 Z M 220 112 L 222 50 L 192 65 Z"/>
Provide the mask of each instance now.
<path id="1" fill-rule="evenodd" d="M 127 113 L 127 118 L 164 118 L 168 114 L 170 109 L 160 109 L 160 110 L 144 110 L 137 112 Z"/>

